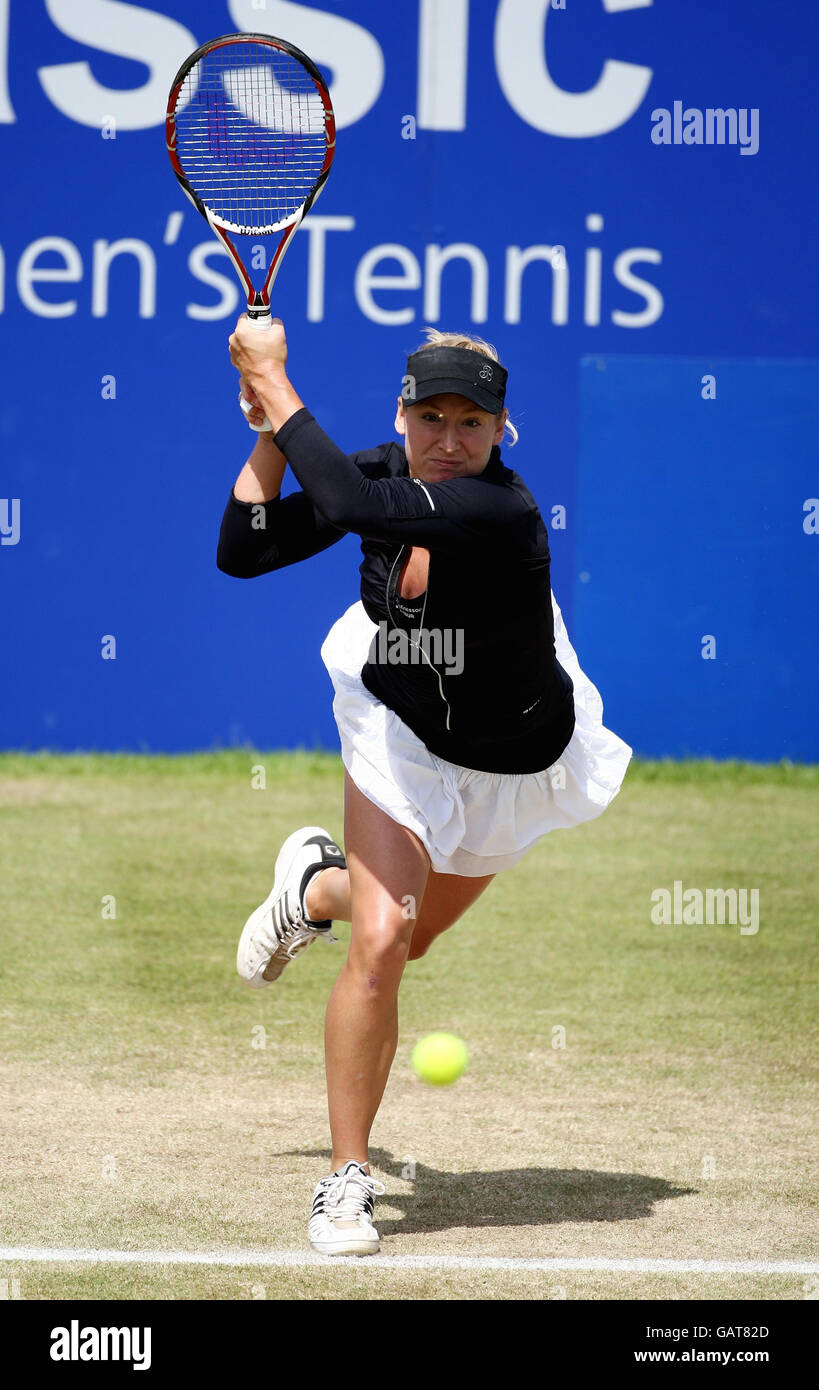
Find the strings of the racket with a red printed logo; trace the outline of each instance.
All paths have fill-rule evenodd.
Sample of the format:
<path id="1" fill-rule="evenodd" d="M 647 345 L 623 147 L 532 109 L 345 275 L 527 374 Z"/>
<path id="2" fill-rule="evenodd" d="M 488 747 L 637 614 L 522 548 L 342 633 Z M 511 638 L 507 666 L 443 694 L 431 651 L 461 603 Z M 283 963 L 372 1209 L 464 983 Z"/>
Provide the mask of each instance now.
<path id="1" fill-rule="evenodd" d="M 177 156 L 202 202 L 249 234 L 292 220 L 327 156 L 325 111 L 305 67 L 263 43 L 202 56 L 175 108 Z"/>

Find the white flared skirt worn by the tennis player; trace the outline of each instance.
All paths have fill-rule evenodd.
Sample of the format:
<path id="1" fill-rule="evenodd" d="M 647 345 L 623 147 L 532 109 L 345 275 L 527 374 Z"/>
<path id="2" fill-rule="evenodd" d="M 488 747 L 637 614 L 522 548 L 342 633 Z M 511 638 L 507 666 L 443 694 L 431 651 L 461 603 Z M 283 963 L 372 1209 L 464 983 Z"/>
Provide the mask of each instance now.
<path id="1" fill-rule="evenodd" d="M 574 682 L 576 726 L 558 762 L 540 773 L 484 773 L 431 753 L 362 682 L 378 631 L 363 603 L 324 639 L 343 764 L 368 801 L 414 831 L 437 873 L 478 878 L 510 869 L 551 830 L 602 815 L 623 784 L 631 749 L 605 728 L 599 692 L 580 670 L 553 595 L 552 609 L 555 652 Z"/>

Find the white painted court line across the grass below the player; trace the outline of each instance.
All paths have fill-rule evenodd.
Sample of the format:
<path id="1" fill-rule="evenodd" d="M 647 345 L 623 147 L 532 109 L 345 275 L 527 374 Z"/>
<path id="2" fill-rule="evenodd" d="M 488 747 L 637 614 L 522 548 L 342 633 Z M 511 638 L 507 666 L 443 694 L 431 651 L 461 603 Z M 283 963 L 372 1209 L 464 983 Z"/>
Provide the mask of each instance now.
<path id="1" fill-rule="evenodd" d="M 254 1265 L 303 1269 L 306 1265 L 349 1265 L 367 1269 L 535 1269 L 545 1273 L 585 1269 L 634 1275 L 819 1275 L 811 1259 L 513 1259 L 492 1255 L 317 1255 L 300 1250 L 71 1250 L 42 1245 L 0 1245 L 0 1261 L 70 1265 Z"/>

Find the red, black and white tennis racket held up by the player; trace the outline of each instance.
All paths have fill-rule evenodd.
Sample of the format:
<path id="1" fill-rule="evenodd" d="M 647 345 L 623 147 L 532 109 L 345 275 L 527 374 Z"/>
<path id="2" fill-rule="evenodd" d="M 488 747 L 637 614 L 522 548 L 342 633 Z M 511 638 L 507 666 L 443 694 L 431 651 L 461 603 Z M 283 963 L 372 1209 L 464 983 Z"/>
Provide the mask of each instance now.
<path id="1" fill-rule="evenodd" d="M 335 154 L 335 117 L 318 68 L 267 33 L 211 39 L 174 78 L 165 143 L 174 174 L 235 265 L 248 317 L 268 329 L 273 284 Z M 231 234 L 281 234 L 264 257 L 263 284 L 253 284 Z M 242 399 L 245 414 L 252 409 Z"/>

